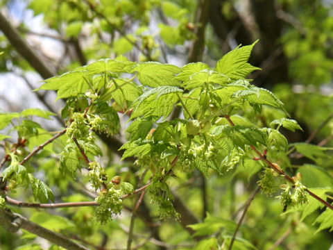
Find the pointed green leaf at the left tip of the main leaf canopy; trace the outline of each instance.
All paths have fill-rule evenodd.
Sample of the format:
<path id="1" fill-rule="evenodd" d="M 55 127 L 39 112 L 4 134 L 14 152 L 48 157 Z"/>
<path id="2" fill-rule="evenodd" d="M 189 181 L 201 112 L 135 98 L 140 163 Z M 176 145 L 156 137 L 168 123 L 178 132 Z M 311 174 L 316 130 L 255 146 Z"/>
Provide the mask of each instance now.
<path id="1" fill-rule="evenodd" d="M 57 100 L 76 97 L 89 89 L 86 76 L 86 71 L 80 68 L 78 72 L 68 72 L 61 76 L 54 76 L 44 80 L 44 85 L 37 90 L 58 90 Z"/>

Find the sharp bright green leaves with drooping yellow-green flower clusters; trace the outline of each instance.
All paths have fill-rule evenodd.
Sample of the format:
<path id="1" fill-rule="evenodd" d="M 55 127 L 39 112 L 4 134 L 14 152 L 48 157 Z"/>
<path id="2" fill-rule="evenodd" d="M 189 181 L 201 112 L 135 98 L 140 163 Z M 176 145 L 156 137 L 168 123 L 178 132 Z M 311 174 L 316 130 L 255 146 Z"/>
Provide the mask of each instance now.
<path id="1" fill-rule="evenodd" d="M 102 154 L 96 144 L 96 134 L 119 133 L 117 112 L 129 115 L 128 142 L 121 147 L 125 150 L 122 160 L 134 156 L 139 168 L 148 169 L 151 174 L 148 194 L 152 203 L 159 207 L 161 218 L 178 217 L 167 183 L 168 176 L 173 173 L 191 174 L 198 169 L 205 176 L 210 176 L 212 170 L 222 175 L 237 165 L 246 167 L 248 160 L 255 156 L 253 147 L 268 151 L 272 161 L 280 160 L 284 165 L 290 165 L 286 157 L 281 158 L 281 153 L 287 155 L 289 148 L 279 128 L 283 126 L 291 131 L 301 128 L 296 121 L 287 118 L 283 103 L 272 92 L 246 80 L 248 74 L 258 69 L 248 63 L 255 43 L 230 51 L 214 69 L 205 63 L 190 63 L 182 68 L 155 62 L 133 63 L 120 56 L 114 60 L 98 60 L 47 79 L 39 90 L 56 90 L 58 99 L 65 99 L 67 103 L 62 110 L 67 130 L 62 140 L 60 172 L 75 178 L 78 170 L 85 166 L 92 188 L 105 187 L 108 177 L 96 161 Z M 128 74 L 130 78 L 126 78 Z M 168 119 L 176 106 L 182 108 L 182 116 Z M 253 115 L 267 112 L 265 110 L 271 110 L 273 114 L 271 120 L 266 121 L 270 128 L 253 119 Z M 1 126 L 5 128 L 12 119 L 36 114 L 45 118 L 52 115 L 42 110 L 1 114 L 4 117 Z M 274 128 L 276 125 L 278 127 Z M 19 140 L 28 141 L 42 129 L 28 119 L 15 128 Z M 3 135 L 2 140 L 5 138 Z M 311 151 L 303 144 L 293 147 L 313 159 L 325 150 L 315 147 L 316 150 Z M 18 148 L 15 148 L 17 152 Z M 35 199 L 41 202 L 53 200 L 50 188 L 19 163 L 28 152 L 21 158 L 15 153 L 8 151 L 11 163 L 3 171 L 3 178 L 15 181 L 16 185 L 31 185 Z M 95 216 L 101 223 L 108 222 L 112 215 L 119 215 L 121 194 L 134 190 L 129 183 L 121 183 L 120 189 L 114 181 L 111 183 L 108 190 L 103 189 L 96 198 L 99 206 Z M 272 169 L 264 170 L 259 185 L 267 194 L 277 192 Z M 300 178 L 295 179 L 293 185 L 283 187 L 280 199 L 285 208 L 307 208 L 311 203 L 307 203 L 306 188 Z M 312 209 L 307 208 L 305 213 L 309 215 L 314 212 Z M 208 216 L 204 224 L 210 219 Z M 333 226 L 332 222 L 327 222 L 327 216 L 318 217 L 317 222 L 321 223 L 320 228 Z M 219 228 L 224 224 L 218 224 Z M 192 228 L 200 231 L 200 226 Z M 217 226 L 215 231 L 218 231 Z M 214 247 L 217 242 L 205 240 L 200 244 Z"/>

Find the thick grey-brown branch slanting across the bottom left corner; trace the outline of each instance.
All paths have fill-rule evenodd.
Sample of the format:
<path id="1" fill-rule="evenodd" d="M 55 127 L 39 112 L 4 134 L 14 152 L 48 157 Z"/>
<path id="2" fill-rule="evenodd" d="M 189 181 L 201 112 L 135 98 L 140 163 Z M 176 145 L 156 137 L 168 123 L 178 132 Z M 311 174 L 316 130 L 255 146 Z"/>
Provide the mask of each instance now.
<path id="1" fill-rule="evenodd" d="M 47 228 L 35 224 L 22 215 L 11 213 L 9 210 L 0 209 L 0 221 L 1 226 L 12 233 L 16 233 L 20 228 L 22 228 L 30 233 L 49 240 L 54 244 L 57 244 L 60 247 L 65 247 L 65 249 L 88 250 L 83 245 L 69 240 L 69 238 L 64 235 L 55 233 Z"/>

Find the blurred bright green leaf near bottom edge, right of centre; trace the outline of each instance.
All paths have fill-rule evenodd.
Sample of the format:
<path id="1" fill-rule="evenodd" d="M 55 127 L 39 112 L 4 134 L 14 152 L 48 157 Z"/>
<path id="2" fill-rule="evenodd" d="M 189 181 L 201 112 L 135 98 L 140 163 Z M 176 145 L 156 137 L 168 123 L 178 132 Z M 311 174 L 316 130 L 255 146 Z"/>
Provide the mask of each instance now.
<path id="1" fill-rule="evenodd" d="M 203 223 L 192 224 L 188 227 L 192 228 L 196 233 L 196 235 L 212 235 L 219 231 L 221 228 L 225 228 L 228 231 L 234 231 L 236 229 L 236 224 L 228 219 L 222 219 L 220 217 L 215 217 L 207 213 L 207 217 Z"/>

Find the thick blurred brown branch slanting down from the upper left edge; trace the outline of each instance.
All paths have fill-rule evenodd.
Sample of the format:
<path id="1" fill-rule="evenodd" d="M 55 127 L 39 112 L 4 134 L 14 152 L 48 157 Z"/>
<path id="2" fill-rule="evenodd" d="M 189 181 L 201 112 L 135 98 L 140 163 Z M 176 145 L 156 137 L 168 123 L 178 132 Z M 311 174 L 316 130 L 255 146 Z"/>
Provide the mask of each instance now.
<path id="1" fill-rule="evenodd" d="M 44 63 L 43 59 L 37 55 L 30 44 L 22 38 L 17 29 L 8 22 L 0 12 L 0 30 L 8 38 L 10 43 L 19 51 L 28 63 L 43 77 L 50 78 L 56 75 L 56 71 Z"/>

